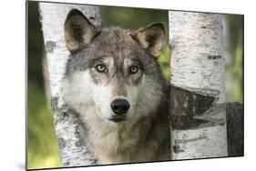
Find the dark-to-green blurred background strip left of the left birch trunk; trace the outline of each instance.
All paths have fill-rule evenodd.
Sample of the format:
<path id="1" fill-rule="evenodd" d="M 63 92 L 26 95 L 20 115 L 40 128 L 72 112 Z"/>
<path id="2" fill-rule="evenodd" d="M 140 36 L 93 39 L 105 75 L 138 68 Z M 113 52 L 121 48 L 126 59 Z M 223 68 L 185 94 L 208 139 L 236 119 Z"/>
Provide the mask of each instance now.
<path id="1" fill-rule="evenodd" d="M 36 2 L 28 4 L 27 166 L 59 166 L 55 130 L 43 79 L 44 43 Z"/>

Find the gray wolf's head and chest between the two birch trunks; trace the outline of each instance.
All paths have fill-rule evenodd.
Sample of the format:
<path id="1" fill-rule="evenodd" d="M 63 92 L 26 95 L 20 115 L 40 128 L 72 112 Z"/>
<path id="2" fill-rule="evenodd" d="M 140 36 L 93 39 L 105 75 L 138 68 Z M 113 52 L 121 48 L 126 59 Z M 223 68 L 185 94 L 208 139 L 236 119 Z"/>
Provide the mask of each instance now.
<path id="1" fill-rule="evenodd" d="M 73 9 L 64 27 L 70 56 L 63 98 L 79 113 L 97 164 L 168 160 L 168 87 L 158 63 L 163 24 L 99 28 Z"/>

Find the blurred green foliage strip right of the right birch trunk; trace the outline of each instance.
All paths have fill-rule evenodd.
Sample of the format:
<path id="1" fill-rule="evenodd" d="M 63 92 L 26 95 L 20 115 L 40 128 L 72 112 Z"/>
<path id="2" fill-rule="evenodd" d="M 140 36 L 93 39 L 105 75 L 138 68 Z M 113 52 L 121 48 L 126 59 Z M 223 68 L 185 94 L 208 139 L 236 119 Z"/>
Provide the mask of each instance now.
<path id="1" fill-rule="evenodd" d="M 229 76 L 229 82 L 232 88 L 227 89 L 227 101 L 236 101 L 243 103 L 243 16 L 225 15 L 229 27 L 229 45 L 228 52 L 231 56 L 231 62 L 226 65 L 226 76 Z"/>

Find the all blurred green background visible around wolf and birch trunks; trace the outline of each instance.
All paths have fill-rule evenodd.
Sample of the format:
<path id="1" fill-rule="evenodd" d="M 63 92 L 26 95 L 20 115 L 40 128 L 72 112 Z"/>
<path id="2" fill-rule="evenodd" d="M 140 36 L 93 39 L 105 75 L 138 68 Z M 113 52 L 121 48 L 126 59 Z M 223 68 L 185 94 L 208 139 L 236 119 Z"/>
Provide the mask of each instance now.
<path id="1" fill-rule="evenodd" d="M 44 43 L 37 2 L 28 3 L 28 168 L 60 166 L 55 130 L 43 77 Z M 168 34 L 168 11 L 102 7 L 103 25 L 120 25 L 129 28 L 163 22 Z M 227 101 L 243 101 L 242 87 L 242 16 L 224 15 L 226 95 Z M 168 36 L 169 37 L 169 36 Z M 159 58 L 166 78 L 169 78 L 168 38 Z"/>

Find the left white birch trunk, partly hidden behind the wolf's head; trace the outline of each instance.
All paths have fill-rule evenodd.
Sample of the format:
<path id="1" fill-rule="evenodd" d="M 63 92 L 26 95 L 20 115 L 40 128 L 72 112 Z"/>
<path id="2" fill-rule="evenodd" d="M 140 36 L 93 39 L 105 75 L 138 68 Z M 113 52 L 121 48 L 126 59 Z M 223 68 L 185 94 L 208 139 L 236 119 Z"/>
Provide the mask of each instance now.
<path id="1" fill-rule="evenodd" d="M 77 8 L 94 24 L 100 25 L 99 8 L 93 5 L 65 5 L 39 3 L 42 30 L 46 48 L 54 125 L 62 166 L 88 166 L 95 163 L 85 146 L 85 130 L 72 109 L 63 102 L 60 94 L 61 79 L 69 55 L 64 39 L 64 22 L 67 13 Z"/>

